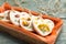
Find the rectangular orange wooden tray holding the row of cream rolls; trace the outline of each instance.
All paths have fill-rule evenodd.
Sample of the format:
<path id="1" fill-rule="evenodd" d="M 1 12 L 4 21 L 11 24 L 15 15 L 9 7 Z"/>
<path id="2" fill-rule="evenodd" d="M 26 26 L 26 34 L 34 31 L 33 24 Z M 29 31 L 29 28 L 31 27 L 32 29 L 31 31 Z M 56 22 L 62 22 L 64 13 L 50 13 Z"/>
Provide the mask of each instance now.
<path id="1" fill-rule="evenodd" d="M 19 8 L 19 7 L 11 7 L 8 2 L 3 3 L 3 6 L 0 7 L 0 12 L 3 12 L 6 10 L 11 10 L 14 9 L 16 11 L 24 11 L 24 12 L 29 12 L 28 9 L 24 8 Z M 32 14 L 37 15 L 40 13 L 31 11 Z M 35 34 L 34 32 L 29 32 L 23 30 L 22 28 L 15 26 L 13 24 L 10 24 L 8 22 L 3 22 L 0 21 L 0 28 L 2 31 L 8 32 L 9 34 L 29 42 L 30 44 L 55 44 L 55 41 L 57 38 L 58 33 L 61 32 L 61 26 L 63 24 L 63 21 L 58 18 L 53 18 L 46 14 L 43 14 L 42 18 L 45 19 L 51 19 L 54 21 L 55 26 L 52 31 L 52 34 L 50 34 L 48 36 L 41 36 L 38 34 Z"/>

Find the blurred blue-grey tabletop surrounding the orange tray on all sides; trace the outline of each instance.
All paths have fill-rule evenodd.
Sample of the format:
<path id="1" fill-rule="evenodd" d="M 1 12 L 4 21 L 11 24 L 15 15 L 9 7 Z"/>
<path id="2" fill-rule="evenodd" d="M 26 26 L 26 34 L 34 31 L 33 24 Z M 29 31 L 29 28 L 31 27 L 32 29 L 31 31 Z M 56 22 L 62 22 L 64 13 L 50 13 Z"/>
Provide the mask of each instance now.
<path id="1" fill-rule="evenodd" d="M 0 0 L 0 6 L 9 2 L 11 6 L 28 8 L 40 13 L 61 18 L 64 21 L 62 32 L 55 44 L 66 44 L 66 0 Z M 0 32 L 0 44 L 28 44 L 24 41 Z"/>

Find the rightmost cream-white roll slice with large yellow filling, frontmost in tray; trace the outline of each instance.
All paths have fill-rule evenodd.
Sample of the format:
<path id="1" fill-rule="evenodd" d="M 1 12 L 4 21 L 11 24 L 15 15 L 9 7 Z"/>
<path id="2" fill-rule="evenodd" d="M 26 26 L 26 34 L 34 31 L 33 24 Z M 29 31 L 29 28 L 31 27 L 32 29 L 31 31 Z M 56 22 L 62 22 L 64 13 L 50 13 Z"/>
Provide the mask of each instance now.
<path id="1" fill-rule="evenodd" d="M 48 19 L 35 19 L 33 20 L 33 28 L 42 36 L 46 36 L 52 33 L 54 22 Z"/>

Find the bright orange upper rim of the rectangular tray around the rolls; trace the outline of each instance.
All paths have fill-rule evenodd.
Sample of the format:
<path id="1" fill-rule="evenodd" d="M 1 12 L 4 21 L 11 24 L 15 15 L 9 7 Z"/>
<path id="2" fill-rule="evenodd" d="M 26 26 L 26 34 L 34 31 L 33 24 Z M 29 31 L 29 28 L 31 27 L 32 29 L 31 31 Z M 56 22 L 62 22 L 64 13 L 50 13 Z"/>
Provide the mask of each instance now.
<path id="1" fill-rule="evenodd" d="M 19 7 L 11 7 L 8 2 L 3 3 L 2 7 L 0 8 L 0 12 L 3 12 L 1 9 L 2 9 L 3 11 L 10 10 L 10 9 L 14 9 L 14 10 L 18 10 L 18 11 L 25 10 L 25 12 L 29 11 L 29 9 L 23 9 L 23 8 L 19 8 Z M 34 11 L 31 11 L 31 13 L 32 13 L 32 14 L 38 14 L 37 12 L 34 12 Z M 42 18 L 51 19 L 51 20 L 57 22 L 57 24 L 55 25 L 55 28 L 54 28 L 54 30 L 53 30 L 53 32 L 52 32 L 52 33 L 53 33 L 52 36 L 54 36 L 54 40 L 53 40 L 53 38 L 52 38 L 52 40 L 51 40 L 51 38 L 47 38 L 47 40 L 46 40 L 45 37 L 42 37 L 42 36 L 40 36 L 40 35 L 36 35 L 36 34 L 32 33 L 32 32 L 22 30 L 21 28 L 16 26 L 16 25 L 11 25 L 11 24 L 9 24 L 9 23 L 7 23 L 7 22 L 3 22 L 3 21 L 0 21 L 0 25 L 6 26 L 6 28 L 9 28 L 9 29 L 14 30 L 14 31 L 19 31 L 20 33 L 24 33 L 24 34 L 31 36 L 32 38 L 41 40 L 41 41 L 46 42 L 46 43 L 47 43 L 47 42 L 48 42 L 48 43 L 55 42 L 55 40 L 56 40 L 56 37 L 57 37 L 57 35 L 58 35 L 58 33 L 56 32 L 56 30 L 58 30 L 58 29 L 62 26 L 63 21 L 62 21 L 59 18 L 52 18 L 52 16 L 46 15 L 46 14 L 43 15 Z M 15 26 L 16 26 L 16 28 L 15 28 Z M 55 36 L 55 35 L 56 35 L 56 36 Z M 47 37 L 48 37 L 48 36 L 47 36 Z M 51 37 L 51 36 L 50 36 L 50 37 Z"/>

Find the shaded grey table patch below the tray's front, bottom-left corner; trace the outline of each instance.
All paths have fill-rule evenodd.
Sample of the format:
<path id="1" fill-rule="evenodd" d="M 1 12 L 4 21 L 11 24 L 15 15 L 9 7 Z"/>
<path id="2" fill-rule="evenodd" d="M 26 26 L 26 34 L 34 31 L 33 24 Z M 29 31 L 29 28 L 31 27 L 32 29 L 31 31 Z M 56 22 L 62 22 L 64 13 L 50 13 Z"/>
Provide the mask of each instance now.
<path id="1" fill-rule="evenodd" d="M 0 44 L 29 44 L 29 43 L 20 41 L 6 32 L 0 32 Z"/>

